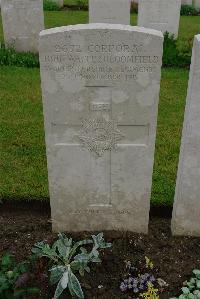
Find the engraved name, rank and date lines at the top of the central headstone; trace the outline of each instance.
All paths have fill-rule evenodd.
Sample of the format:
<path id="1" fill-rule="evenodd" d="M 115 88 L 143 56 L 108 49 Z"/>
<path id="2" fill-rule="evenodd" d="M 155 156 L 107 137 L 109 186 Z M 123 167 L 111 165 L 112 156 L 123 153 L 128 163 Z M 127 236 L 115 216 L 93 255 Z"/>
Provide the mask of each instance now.
<path id="1" fill-rule="evenodd" d="M 112 86 L 122 81 L 136 81 L 139 73 L 156 71 L 161 57 L 145 55 L 145 49 L 142 43 L 134 42 L 89 43 L 84 46 L 78 43 L 55 44 L 53 53 L 42 57 L 43 69 L 59 73 L 68 80 L 82 80 L 88 86 Z"/>

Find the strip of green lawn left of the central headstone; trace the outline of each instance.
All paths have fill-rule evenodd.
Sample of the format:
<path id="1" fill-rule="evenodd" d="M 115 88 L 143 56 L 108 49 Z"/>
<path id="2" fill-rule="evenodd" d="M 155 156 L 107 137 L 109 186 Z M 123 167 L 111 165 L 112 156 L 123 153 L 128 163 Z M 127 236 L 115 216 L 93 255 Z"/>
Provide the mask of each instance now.
<path id="1" fill-rule="evenodd" d="M 1 67 L 3 198 L 48 196 L 39 69 Z"/>

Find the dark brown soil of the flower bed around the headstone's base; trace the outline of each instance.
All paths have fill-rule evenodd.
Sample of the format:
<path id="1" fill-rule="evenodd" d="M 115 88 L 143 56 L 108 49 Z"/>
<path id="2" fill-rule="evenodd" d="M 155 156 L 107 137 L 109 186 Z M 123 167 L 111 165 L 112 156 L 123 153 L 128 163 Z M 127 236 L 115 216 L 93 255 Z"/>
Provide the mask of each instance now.
<path id="1" fill-rule="evenodd" d="M 91 273 L 80 281 L 88 299 L 128 299 L 119 290 L 125 273 L 125 261 L 144 260 L 148 256 L 155 265 L 155 275 L 164 279 L 169 286 L 161 299 L 176 295 L 182 282 L 191 276 L 192 270 L 200 268 L 200 238 L 172 237 L 170 219 L 158 218 L 152 213 L 149 234 L 130 232 L 105 232 L 106 241 L 112 242 L 111 249 L 103 252 L 103 262 L 94 265 Z M 168 213 L 170 214 L 170 213 Z M 50 208 L 48 204 L 3 204 L 0 206 L 0 252 L 10 251 L 20 261 L 31 253 L 35 242 L 53 240 L 51 233 Z M 72 233 L 74 239 L 83 239 L 89 233 Z M 42 289 L 37 299 L 51 299 L 53 289 L 48 286 L 47 277 L 39 279 Z M 99 288 L 99 286 L 102 286 Z M 64 295 L 63 298 L 71 298 Z"/>

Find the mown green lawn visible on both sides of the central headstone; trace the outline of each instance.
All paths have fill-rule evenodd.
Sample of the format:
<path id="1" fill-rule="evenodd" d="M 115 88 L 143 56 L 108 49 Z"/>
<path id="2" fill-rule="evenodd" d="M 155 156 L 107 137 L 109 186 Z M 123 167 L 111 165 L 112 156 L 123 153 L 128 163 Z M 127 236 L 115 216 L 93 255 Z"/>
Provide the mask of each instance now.
<path id="1" fill-rule="evenodd" d="M 164 69 L 158 117 L 153 204 L 172 204 L 188 71 Z M 38 69 L 1 67 L 0 192 L 5 199 L 48 197 Z"/>

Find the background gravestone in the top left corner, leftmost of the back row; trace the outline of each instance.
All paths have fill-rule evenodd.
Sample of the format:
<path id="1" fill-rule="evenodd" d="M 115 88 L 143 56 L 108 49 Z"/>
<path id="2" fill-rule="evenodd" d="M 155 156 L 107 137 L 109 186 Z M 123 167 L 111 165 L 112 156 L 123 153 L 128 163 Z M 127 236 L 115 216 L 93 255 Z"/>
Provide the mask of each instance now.
<path id="1" fill-rule="evenodd" d="M 39 32 L 44 29 L 42 0 L 2 0 L 1 14 L 7 47 L 38 51 Z"/>

